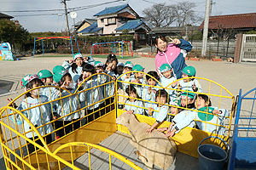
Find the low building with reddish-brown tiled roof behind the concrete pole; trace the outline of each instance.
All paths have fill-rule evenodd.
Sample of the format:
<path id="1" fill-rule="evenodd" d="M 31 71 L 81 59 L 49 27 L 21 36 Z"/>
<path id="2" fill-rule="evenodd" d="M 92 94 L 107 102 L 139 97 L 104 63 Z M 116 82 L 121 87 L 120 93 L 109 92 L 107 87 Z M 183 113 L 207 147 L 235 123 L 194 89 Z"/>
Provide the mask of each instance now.
<path id="1" fill-rule="evenodd" d="M 200 29 L 203 30 L 204 22 Z M 210 16 L 209 31 L 212 37 L 231 37 L 235 38 L 237 33 L 256 30 L 256 13 L 248 14 L 227 14 Z"/>

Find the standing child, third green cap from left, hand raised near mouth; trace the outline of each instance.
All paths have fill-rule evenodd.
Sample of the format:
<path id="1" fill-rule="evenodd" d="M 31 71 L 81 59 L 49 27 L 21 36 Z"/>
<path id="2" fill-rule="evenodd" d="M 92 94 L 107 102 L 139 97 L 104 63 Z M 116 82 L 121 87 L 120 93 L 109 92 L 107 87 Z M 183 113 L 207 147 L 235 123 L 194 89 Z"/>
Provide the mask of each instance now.
<path id="1" fill-rule="evenodd" d="M 68 71 L 65 70 L 63 67 L 59 67 L 56 69 L 53 78 L 54 81 L 58 83 L 58 86 L 65 89 L 61 92 L 61 97 L 65 97 L 75 92 L 76 87 L 73 86 L 73 79 Z M 79 95 L 79 99 L 78 95 L 72 95 L 70 97 L 58 100 L 58 103 L 56 104 L 56 111 L 57 115 L 61 118 L 54 117 L 55 119 L 57 119 L 55 127 L 62 128 L 56 132 L 57 139 L 66 135 L 67 133 L 71 133 L 73 130 L 80 127 L 79 117 L 81 113 L 77 110 L 79 110 L 79 100 L 84 100 L 84 98 L 84 94 L 81 94 Z M 71 112 L 75 113 L 70 114 Z"/>

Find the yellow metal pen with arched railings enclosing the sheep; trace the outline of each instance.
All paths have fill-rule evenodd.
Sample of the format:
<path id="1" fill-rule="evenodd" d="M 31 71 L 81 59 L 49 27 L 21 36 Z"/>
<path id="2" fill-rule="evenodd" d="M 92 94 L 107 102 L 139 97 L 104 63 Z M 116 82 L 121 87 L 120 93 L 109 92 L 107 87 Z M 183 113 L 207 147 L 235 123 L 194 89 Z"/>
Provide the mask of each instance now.
<path id="1" fill-rule="evenodd" d="M 138 72 L 138 71 L 136 71 Z M 126 74 L 131 73 L 127 72 Z M 133 72 L 135 73 L 135 72 Z M 144 80 L 146 73 L 144 74 Z M 123 77 L 125 75 L 122 75 L 120 77 Z M 148 75 L 149 76 L 149 75 Z M 83 88 L 84 83 L 86 83 L 88 80 L 90 80 L 91 77 L 96 77 L 98 80 L 96 87 L 91 88 Z M 58 89 L 58 94 L 60 94 L 58 99 L 49 99 L 49 102 L 41 103 L 39 101 L 38 105 L 35 105 L 33 107 L 27 108 L 23 111 L 18 111 L 14 108 L 15 101 L 19 99 L 26 99 L 26 94 L 30 91 L 36 89 L 33 88 L 32 90 L 20 94 L 18 97 L 16 97 L 12 102 L 9 103 L 9 105 L 4 106 L 0 109 L 0 117 L 1 117 L 1 145 L 3 150 L 3 158 L 5 161 L 6 167 L 8 169 L 61 169 L 63 167 L 70 167 L 73 169 L 79 169 L 77 167 L 77 164 L 75 164 L 76 160 L 83 156 L 84 154 L 88 154 L 88 160 L 89 161 L 89 168 L 90 168 L 90 149 L 94 148 L 96 150 L 102 150 L 103 152 L 108 153 L 109 155 L 109 168 L 111 169 L 112 161 L 111 157 L 116 157 L 120 161 L 124 161 L 128 166 L 134 168 L 134 169 L 141 169 L 141 167 L 137 167 L 131 160 L 129 161 L 127 158 L 124 158 L 123 156 L 120 156 L 119 154 L 108 150 L 106 148 L 102 148 L 101 146 L 98 146 L 102 140 L 107 139 L 108 136 L 115 133 L 116 131 L 122 132 L 122 133 L 128 133 L 128 130 L 126 127 L 123 127 L 121 125 L 116 125 L 115 119 L 117 116 L 122 114 L 124 111 L 121 109 L 118 109 L 118 105 L 128 105 L 125 103 L 125 99 L 128 99 L 128 97 L 125 94 L 117 93 L 118 90 L 118 83 L 121 83 L 121 85 L 124 87 L 126 84 L 133 84 L 135 87 L 137 86 L 149 86 L 147 84 L 138 84 L 135 82 L 124 82 L 121 80 L 120 77 L 117 78 L 117 81 L 114 82 L 111 77 L 109 77 L 107 74 L 99 73 L 92 75 L 91 77 L 88 77 L 82 84 L 79 86 L 79 88 L 76 90 L 74 94 L 69 94 L 67 96 L 61 96 L 61 91 L 65 90 L 63 88 L 55 87 Z M 149 76 L 151 77 L 151 76 Z M 100 83 L 101 79 L 104 79 L 104 83 Z M 154 77 L 152 77 L 154 79 Z M 189 77 L 190 78 L 190 77 Z M 204 130 L 197 129 L 196 127 L 185 127 L 181 130 L 180 133 L 177 133 L 172 139 L 174 139 L 175 143 L 177 144 L 177 150 L 180 152 L 183 152 L 185 154 L 188 154 L 189 156 L 195 156 L 198 157 L 197 153 L 197 147 L 200 144 L 202 139 L 207 138 L 208 136 L 218 136 L 221 139 L 224 139 L 225 141 L 229 140 L 230 136 L 230 127 L 231 127 L 231 120 L 234 112 L 234 101 L 235 97 L 230 94 L 230 91 L 217 82 L 213 82 L 206 78 L 201 77 L 195 77 L 200 83 L 203 88 L 203 91 L 205 93 L 198 93 L 198 92 L 192 92 L 193 94 L 207 94 L 212 99 L 212 105 L 218 106 L 218 108 L 225 108 L 230 110 L 230 116 L 226 116 L 224 124 L 218 124 L 218 123 L 211 123 L 211 122 L 205 122 L 207 125 L 215 125 L 216 128 L 218 127 L 224 127 L 225 133 L 224 135 L 219 135 L 218 133 L 208 133 Z M 157 81 L 157 80 L 155 80 Z M 158 81 L 157 81 L 158 82 Z M 159 82 L 160 83 L 160 82 Z M 175 83 L 175 82 L 174 82 Z M 52 86 L 45 86 L 45 87 L 38 87 L 38 88 L 47 88 L 49 89 L 49 94 L 53 93 L 51 91 Z M 85 87 L 85 86 L 84 86 Z M 149 86 L 150 87 L 150 86 Z M 171 87 L 171 88 L 170 88 Z M 66 116 L 58 117 L 55 120 L 52 120 L 51 122 L 45 122 L 42 126 L 35 126 L 33 125 L 29 119 L 23 114 L 23 113 L 29 113 L 32 111 L 32 109 L 35 108 L 41 108 L 41 105 L 50 105 L 53 107 L 56 102 L 62 103 L 62 99 L 68 99 L 71 102 L 71 97 L 76 95 L 82 95 L 82 94 L 90 94 L 93 93 L 94 89 L 105 89 L 105 88 L 116 88 L 115 92 L 113 94 L 110 94 L 111 90 L 109 90 L 109 94 L 106 94 L 106 91 L 104 90 L 103 93 L 103 99 L 93 102 L 90 105 L 86 105 L 82 107 L 80 105 L 79 109 L 77 111 L 73 111 L 71 109 L 70 113 L 66 116 L 72 116 L 74 113 L 79 113 L 79 119 L 74 120 L 73 122 L 69 122 L 68 124 L 63 124 L 62 127 L 55 127 L 56 121 L 61 121 Z M 151 86 L 151 88 L 155 88 L 154 86 Z M 172 84 L 168 85 L 167 87 L 162 87 L 160 84 L 160 87 L 157 87 L 160 89 L 166 89 L 167 92 L 170 90 L 176 90 L 177 92 L 188 92 L 187 90 L 179 90 L 179 89 L 173 89 Z M 123 98 L 123 99 L 122 99 Z M 141 99 L 144 103 L 155 103 L 152 101 Z M 96 105 L 98 103 L 103 103 L 104 105 L 98 108 L 94 108 L 90 111 L 89 108 L 93 105 Z M 29 104 L 28 104 L 29 105 Z M 171 106 L 168 104 L 165 104 L 168 106 Z M 144 105 L 143 107 L 134 105 L 137 108 L 143 108 L 145 111 L 148 110 Z M 178 105 L 172 105 L 173 107 L 177 108 L 183 108 Z M 185 111 L 189 111 L 191 109 L 189 108 L 183 108 Z M 63 108 L 61 108 L 63 110 Z M 39 111 L 41 111 L 39 109 Z M 85 111 L 85 112 L 84 112 Z M 87 112 L 88 111 L 88 112 Z M 207 114 L 207 116 L 212 115 L 211 113 L 208 113 L 206 111 L 201 111 Z M 41 114 L 42 111 L 41 111 Z M 53 114 L 53 112 L 52 112 Z M 53 115 L 54 116 L 54 115 Z M 144 115 L 137 115 L 137 119 L 140 122 L 147 122 L 149 125 L 152 125 L 155 122 L 155 119 L 149 116 Z M 168 116 L 172 116 L 171 113 L 168 113 Z M 17 117 L 20 117 L 21 125 L 17 123 Z M 93 117 L 93 118 L 91 118 Z M 200 122 L 198 118 L 195 119 L 195 122 Z M 29 131 L 25 131 L 24 129 L 24 122 L 27 122 L 31 129 Z M 79 127 L 77 129 L 74 129 L 74 123 L 79 122 Z M 44 128 L 45 126 L 51 124 L 54 128 L 54 130 L 51 133 L 41 135 L 39 133 L 40 128 Z M 163 122 L 160 124 L 160 127 L 168 127 L 170 122 Z M 55 138 L 55 141 L 51 142 L 50 144 L 46 144 L 46 137 L 51 135 L 52 137 L 56 137 L 56 132 L 58 130 L 64 130 L 65 127 L 72 126 L 73 132 L 66 133 L 64 136 L 62 136 L 59 139 Z M 26 137 L 27 133 L 32 133 L 32 138 L 29 139 Z M 222 144 L 219 140 L 216 139 L 209 139 L 208 142 L 210 144 L 218 144 L 220 147 L 225 149 L 225 145 Z M 28 151 L 28 145 L 32 144 L 34 146 L 35 151 L 32 153 L 29 153 Z"/>

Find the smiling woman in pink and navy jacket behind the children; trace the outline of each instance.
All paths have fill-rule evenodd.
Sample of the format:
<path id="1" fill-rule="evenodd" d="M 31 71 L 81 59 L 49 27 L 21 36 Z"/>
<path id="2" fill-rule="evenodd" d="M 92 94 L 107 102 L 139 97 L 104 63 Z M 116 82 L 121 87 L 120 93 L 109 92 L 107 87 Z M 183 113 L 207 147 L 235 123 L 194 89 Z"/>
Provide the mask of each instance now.
<path id="1" fill-rule="evenodd" d="M 187 66 L 183 57 L 183 50 L 186 52 L 191 51 L 192 45 L 190 42 L 183 39 L 173 39 L 172 42 L 167 44 L 166 37 L 161 36 L 156 37 L 155 42 L 155 46 L 158 48 L 158 53 L 155 56 L 156 71 L 159 71 L 161 65 L 167 63 L 172 66 L 177 79 L 181 78 L 181 71 Z"/>

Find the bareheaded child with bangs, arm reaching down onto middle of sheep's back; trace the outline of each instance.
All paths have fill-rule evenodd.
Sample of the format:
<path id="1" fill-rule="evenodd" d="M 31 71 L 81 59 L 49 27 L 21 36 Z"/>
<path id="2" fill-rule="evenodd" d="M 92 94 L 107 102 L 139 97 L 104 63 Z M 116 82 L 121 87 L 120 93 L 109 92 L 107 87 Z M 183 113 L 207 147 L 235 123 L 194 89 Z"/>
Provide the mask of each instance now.
<path id="1" fill-rule="evenodd" d="M 165 89 L 160 89 L 155 94 L 155 101 L 157 105 L 153 105 L 152 108 L 148 108 L 148 114 L 156 119 L 154 124 L 146 130 L 146 133 L 151 133 L 155 127 L 157 127 L 161 122 L 164 122 L 168 113 L 168 94 Z M 152 111 L 154 109 L 155 111 Z M 157 112 L 159 111 L 159 112 Z"/>

